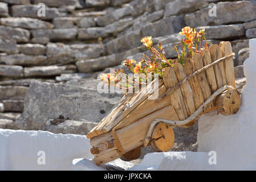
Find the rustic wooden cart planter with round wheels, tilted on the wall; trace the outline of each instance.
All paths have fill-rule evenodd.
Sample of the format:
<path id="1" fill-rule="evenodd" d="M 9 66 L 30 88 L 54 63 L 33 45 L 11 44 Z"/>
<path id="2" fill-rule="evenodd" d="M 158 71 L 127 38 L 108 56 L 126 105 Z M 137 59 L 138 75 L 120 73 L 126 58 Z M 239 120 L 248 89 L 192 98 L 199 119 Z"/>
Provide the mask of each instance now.
<path id="1" fill-rule="evenodd" d="M 87 135 L 94 162 L 99 166 L 117 158 L 137 159 L 141 147 L 149 145 L 168 151 L 174 143 L 173 127 L 192 126 L 202 113 L 212 110 L 237 113 L 240 94 L 235 89 L 233 56 L 230 42 L 212 45 L 184 66 L 175 63 L 174 68 L 165 68 L 163 79 L 139 93 L 124 96 Z M 151 100 L 156 82 L 159 97 Z"/>

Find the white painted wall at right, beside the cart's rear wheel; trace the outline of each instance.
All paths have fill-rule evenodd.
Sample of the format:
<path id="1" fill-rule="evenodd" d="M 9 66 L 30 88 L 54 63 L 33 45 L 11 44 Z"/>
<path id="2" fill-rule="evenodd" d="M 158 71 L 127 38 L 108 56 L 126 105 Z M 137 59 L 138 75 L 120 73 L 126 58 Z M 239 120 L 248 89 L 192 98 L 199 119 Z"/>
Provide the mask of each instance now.
<path id="1" fill-rule="evenodd" d="M 246 85 L 235 115 L 202 115 L 198 125 L 198 151 L 217 152 L 216 169 L 256 169 L 256 39 L 243 63 Z"/>

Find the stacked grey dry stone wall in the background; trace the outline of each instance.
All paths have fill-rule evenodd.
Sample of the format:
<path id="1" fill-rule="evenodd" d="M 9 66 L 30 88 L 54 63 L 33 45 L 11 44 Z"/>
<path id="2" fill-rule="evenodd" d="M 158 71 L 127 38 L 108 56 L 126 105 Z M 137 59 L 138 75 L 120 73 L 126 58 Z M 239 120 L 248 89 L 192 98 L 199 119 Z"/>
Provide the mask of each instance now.
<path id="1" fill-rule="evenodd" d="M 45 16 L 38 3 L 46 5 Z M 217 16 L 209 16 L 209 3 L 216 3 Z M 13 120 L 31 82 L 96 89 L 100 72 L 148 53 L 143 36 L 175 58 L 181 28 L 205 28 L 210 42 L 231 42 L 237 77 L 256 37 L 254 1 L 0 0 L 0 17 L 0 118 Z"/>

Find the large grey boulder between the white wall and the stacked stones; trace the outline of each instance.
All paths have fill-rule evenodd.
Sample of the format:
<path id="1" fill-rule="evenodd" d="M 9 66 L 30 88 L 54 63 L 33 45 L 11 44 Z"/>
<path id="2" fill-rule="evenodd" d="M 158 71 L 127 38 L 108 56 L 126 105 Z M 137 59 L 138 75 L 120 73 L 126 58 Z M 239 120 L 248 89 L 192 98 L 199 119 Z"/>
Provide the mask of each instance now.
<path id="1" fill-rule="evenodd" d="M 16 123 L 20 129 L 42 130 L 48 119 L 99 122 L 119 99 L 118 94 L 99 94 L 78 86 L 32 82 Z"/>

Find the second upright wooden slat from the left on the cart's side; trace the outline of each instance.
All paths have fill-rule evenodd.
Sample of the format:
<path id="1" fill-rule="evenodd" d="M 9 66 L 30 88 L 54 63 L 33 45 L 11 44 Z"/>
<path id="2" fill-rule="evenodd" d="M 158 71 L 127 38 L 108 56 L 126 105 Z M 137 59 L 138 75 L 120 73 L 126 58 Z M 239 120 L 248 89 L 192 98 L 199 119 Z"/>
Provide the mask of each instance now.
<path id="1" fill-rule="evenodd" d="M 184 80 L 184 78 L 186 78 L 186 72 L 180 63 L 175 63 L 173 69 L 177 77 L 177 80 L 179 82 Z M 186 113 L 188 114 L 188 117 L 189 117 L 196 110 L 196 107 L 194 106 L 194 101 L 193 101 L 193 91 L 188 81 L 182 84 L 180 89 L 181 89 L 181 93 L 183 96 L 182 98 L 186 107 Z"/>

